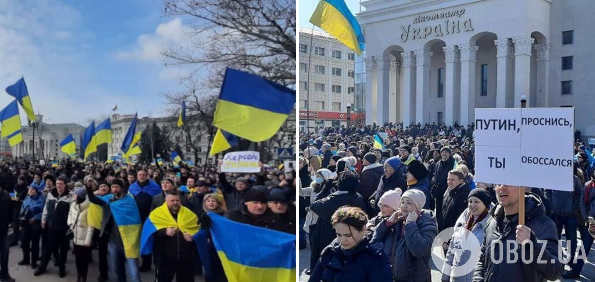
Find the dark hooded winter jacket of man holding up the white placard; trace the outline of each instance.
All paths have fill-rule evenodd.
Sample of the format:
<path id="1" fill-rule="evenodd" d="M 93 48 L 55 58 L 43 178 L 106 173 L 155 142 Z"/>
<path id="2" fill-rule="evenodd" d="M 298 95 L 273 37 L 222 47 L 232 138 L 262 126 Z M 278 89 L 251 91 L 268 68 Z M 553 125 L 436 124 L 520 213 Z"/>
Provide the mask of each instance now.
<path id="1" fill-rule="evenodd" d="M 533 251 L 530 264 L 522 262 L 521 249 L 516 249 L 516 263 L 506 263 L 506 240 L 516 240 L 518 214 L 505 216 L 504 208 L 496 205 L 490 210 L 491 220 L 486 224 L 486 237 L 481 247 L 480 259 L 475 267 L 473 281 L 546 281 L 558 280 L 564 265 L 558 260 L 558 232 L 556 224 L 545 214 L 541 199 L 536 195 L 525 194 L 525 226 L 531 229 L 533 250 L 525 249 L 525 254 Z M 537 240 L 547 240 L 545 248 Z M 500 243 L 494 243 L 500 241 Z M 493 248 L 490 248 L 493 246 Z M 530 244 L 522 246 L 530 248 Z M 509 248 L 513 248 L 510 246 Z M 493 252 L 493 254 L 492 254 Z M 541 254 L 543 252 L 543 254 Z M 541 255 L 540 255 L 541 254 Z M 492 258 L 493 256 L 493 258 Z M 528 255 L 525 256 L 525 259 Z M 537 263 L 537 260 L 544 263 Z M 494 261 L 500 261 L 496 264 Z"/>

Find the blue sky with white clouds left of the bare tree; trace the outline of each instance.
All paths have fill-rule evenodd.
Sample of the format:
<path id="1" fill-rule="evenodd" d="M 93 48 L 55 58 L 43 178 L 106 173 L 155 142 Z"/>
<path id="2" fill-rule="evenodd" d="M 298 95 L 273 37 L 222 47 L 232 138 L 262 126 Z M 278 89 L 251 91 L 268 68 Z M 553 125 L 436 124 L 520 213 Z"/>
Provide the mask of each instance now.
<path id="1" fill-rule="evenodd" d="M 23 2 L 26 2 L 24 4 Z M 186 46 L 187 26 L 163 1 L 0 1 L 0 107 L 24 76 L 35 111 L 49 123 L 111 113 L 165 115 L 160 93 L 183 89 L 187 69 L 165 67 L 159 51 Z M 24 123 L 24 112 L 21 110 Z"/>

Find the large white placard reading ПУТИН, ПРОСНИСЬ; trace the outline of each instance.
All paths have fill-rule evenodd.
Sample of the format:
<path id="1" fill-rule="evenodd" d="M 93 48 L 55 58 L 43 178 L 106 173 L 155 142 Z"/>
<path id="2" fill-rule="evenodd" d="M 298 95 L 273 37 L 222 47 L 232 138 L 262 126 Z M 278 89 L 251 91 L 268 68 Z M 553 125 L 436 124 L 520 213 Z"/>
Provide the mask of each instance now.
<path id="1" fill-rule="evenodd" d="M 475 109 L 475 181 L 572 191 L 574 108 Z"/>

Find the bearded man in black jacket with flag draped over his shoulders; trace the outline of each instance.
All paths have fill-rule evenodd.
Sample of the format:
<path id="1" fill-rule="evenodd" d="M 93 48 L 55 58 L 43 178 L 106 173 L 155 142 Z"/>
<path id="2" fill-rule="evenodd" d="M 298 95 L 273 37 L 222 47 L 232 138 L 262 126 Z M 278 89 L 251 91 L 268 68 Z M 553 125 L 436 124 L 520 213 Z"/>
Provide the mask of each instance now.
<path id="1" fill-rule="evenodd" d="M 170 190 L 165 192 L 165 203 L 171 216 L 177 220 L 181 208 L 180 192 Z M 173 281 L 174 274 L 177 281 L 194 281 L 193 258 L 196 256 L 196 246 L 192 236 L 171 227 L 159 229 L 155 232 L 153 255 L 157 268 L 157 281 Z"/>

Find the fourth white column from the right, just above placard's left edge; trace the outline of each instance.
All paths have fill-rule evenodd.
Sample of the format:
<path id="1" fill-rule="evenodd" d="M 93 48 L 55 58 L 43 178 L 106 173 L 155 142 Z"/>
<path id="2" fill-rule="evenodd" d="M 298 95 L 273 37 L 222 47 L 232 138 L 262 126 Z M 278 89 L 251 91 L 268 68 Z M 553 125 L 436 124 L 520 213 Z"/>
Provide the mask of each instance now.
<path id="1" fill-rule="evenodd" d="M 461 52 L 461 120 L 459 124 L 468 125 L 475 116 L 475 55 L 478 46 L 473 44 L 458 45 Z"/>

